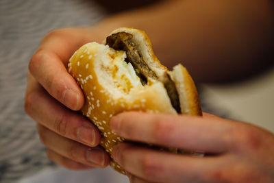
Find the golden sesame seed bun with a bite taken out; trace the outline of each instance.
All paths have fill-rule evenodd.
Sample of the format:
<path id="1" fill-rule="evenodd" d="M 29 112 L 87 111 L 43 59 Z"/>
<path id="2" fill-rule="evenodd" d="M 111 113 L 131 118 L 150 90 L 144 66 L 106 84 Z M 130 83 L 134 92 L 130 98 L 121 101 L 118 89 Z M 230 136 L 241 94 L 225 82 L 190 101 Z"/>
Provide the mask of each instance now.
<path id="1" fill-rule="evenodd" d="M 201 115 L 201 106 L 194 82 L 188 71 L 178 64 L 168 71 L 153 53 L 151 42 L 145 32 L 138 29 L 119 28 L 111 34 L 127 32 L 133 35 L 140 55 L 158 78 L 169 73 L 179 95 L 182 114 Z M 100 145 L 110 154 L 112 147 L 125 141 L 110 129 L 110 119 L 124 111 L 138 110 L 153 113 L 177 114 L 161 80 L 147 78 L 144 86 L 134 67 L 125 62 L 125 51 L 108 45 L 90 42 L 80 47 L 69 60 L 69 73 L 73 75 L 85 96 L 84 114 L 101 131 Z M 111 162 L 112 168 L 125 174 L 123 167 Z"/>

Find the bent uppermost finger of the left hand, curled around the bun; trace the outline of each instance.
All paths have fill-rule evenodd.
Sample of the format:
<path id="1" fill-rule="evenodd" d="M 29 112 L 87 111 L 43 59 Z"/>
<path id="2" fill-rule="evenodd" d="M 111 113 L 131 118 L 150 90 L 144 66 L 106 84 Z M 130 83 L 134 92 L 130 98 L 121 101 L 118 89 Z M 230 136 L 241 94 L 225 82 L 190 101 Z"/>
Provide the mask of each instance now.
<path id="1" fill-rule="evenodd" d="M 74 51 L 89 41 L 90 33 L 84 28 L 51 32 L 29 62 L 29 71 L 36 80 L 51 96 L 72 110 L 82 108 L 84 95 L 66 71 L 66 65 Z"/>

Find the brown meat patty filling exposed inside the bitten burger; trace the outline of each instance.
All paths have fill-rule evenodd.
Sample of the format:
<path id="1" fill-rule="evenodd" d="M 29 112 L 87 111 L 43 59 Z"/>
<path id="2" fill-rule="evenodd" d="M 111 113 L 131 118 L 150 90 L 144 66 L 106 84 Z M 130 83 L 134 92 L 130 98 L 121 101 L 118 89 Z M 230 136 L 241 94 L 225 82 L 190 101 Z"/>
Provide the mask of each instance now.
<path id="1" fill-rule="evenodd" d="M 107 37 L 106 42 L 107 45 L 112 47 L 115 50 L 123 50 L 125 51 L 127 58 L 125 58 L 125 62 L 130 62 L 134 67 L 134 71 L 136 75 L 140 78 L 140 82 L 143 86 L 147 85 L 148 77 L 153 80 L 160 80 L 158 75 L 153 72 L 147 63 L 143 60 L 140 51 L 138 51 L 136 44 L 132 40 L 133 35 L 126 32 L 119 32 L 116 34 L 112 34 Z M 173 108 L 178 113 L 181 113 L 181 108 L 179 105 L 179 95 L 177 93 L 175 83 L 171 80 L 169 73 L 165 73 L 164 77 L 161 78 L 161 82 L 164 84 L 164 88 L 166 88 L 166 92 L 171 99 L 171 104 Z"/>

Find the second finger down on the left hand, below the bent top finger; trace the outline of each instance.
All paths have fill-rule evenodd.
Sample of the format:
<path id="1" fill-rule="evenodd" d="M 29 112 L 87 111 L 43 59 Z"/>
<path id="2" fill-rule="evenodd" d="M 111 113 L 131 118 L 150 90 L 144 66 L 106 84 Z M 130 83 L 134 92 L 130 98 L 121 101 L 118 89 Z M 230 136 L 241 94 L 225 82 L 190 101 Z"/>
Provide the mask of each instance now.
<path id="1" fill-rule="evenodd" d="M 100 142 L 100 132 L 83 117 L 53 99 L 35 80 L 29 77 L 25 97 L 25 111 L 32 119 L 53 132 L 79 143 L 95 147 Z"/>

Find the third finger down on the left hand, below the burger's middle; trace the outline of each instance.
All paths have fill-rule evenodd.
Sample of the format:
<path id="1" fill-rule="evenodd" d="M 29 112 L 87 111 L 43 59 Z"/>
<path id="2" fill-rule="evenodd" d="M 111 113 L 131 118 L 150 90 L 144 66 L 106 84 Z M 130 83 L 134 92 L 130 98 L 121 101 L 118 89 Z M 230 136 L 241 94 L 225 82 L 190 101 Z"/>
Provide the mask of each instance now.
<path id="1" fill-rule="evenodd" d="M 110 157 L 101 147 L 90 148 L 55 134 L 42 125 L 37 127 L 42 143 L 61 156 L 91 167 L 106 167 L 110 163 Z"/>

